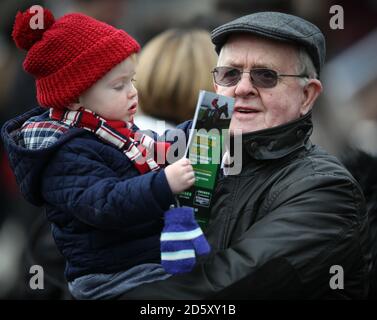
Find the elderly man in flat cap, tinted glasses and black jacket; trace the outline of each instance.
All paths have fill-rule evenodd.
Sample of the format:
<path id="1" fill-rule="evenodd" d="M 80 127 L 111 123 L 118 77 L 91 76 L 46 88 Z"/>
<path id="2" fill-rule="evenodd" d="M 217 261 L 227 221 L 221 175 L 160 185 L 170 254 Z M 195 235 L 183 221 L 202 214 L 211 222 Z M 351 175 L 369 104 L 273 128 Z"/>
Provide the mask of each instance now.
<path id="1" fill-rule="evenodd" d="M 222 177 L 207 238 L 212 254 L 188 274 L 125 299 L 365 298 L 370 248 L 353 177 L 313 145 L 322 85 L 321 31 L 301 18 L 251 14 L 212 32 L 217 93 L 235 98 L 242 170 Z"/>

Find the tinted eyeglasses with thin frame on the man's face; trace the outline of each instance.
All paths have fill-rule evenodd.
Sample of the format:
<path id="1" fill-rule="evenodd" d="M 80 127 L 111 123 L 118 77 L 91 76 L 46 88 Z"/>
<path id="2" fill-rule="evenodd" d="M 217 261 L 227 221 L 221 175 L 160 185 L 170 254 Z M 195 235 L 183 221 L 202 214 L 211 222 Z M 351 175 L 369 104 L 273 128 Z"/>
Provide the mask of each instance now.
<path id="1" fill-rule="evenodd" d="M 251 83 L 258 88 L 273 88 L 280 77 L 308 78 L 305 74 L 278 74 L 275 70 L 268 68 L 242 71 L 234 67 L 216 67 L 211 72 L 215 83 L 223 87 L 235 86 L 241 80 L 243 73 L 249 73 Z"/>

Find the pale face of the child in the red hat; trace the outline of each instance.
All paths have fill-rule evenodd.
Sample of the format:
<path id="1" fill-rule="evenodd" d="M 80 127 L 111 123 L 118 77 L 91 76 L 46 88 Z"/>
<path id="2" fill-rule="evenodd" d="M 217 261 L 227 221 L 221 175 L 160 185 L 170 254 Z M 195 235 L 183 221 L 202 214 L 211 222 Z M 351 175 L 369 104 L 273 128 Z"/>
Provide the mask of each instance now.
<path id="1" fill-rule="evenodd" d="M 138 106 L 132 81 L 135 63 L 127 58 L 80 97 L 80 104 L 107 120 L 132 121 Z"/>

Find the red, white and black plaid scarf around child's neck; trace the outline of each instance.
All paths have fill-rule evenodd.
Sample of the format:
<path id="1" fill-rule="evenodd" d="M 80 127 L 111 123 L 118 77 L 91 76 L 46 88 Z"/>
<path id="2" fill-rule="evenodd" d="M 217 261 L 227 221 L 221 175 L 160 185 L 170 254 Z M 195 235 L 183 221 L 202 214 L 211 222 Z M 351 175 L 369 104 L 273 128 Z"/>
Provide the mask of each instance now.
<path id="1" fill-rule="evenodd" d="M 63 122 L 70 127 L 78 127 L 93 132 L 101 140 L 117 147 L 132 161 L 141 173 L 160 169 L 151 156 L 157 150 L 166 153 L 169 143 L 156 142 L 151 137 L 134 132 L 127 122 L 105 120 L 94 112 L 80 108 L 78 111 L 50 109 L 50 118 Z M 158 146 L 161 145 L 161 146 Z"/>

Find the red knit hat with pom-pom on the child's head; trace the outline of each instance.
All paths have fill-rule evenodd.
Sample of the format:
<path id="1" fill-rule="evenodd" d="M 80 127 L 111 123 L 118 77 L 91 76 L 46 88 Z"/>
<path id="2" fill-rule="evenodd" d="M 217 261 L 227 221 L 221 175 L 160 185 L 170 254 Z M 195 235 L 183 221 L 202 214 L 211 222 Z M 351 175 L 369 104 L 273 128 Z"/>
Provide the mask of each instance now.
<path id="1" fill-rule="evenodd" d="M 140 50 L 125 31 L 79 13 L 57 21 L 43 10 L 44 29 L 32 29 L 30 9 L 18 12 L 13 39 L 28 50 L 25 71 L 36 78 L 41 106 L 65 108 L 117 64 Z"/>

